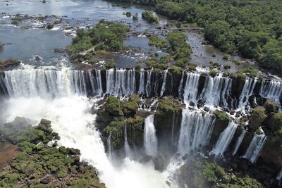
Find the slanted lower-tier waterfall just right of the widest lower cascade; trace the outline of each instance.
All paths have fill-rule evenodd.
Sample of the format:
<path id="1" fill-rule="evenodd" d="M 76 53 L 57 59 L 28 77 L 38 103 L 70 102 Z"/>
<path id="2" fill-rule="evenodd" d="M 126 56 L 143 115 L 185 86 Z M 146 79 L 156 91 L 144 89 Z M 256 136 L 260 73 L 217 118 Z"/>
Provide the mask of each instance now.
<path id="1" fill-rule="evenodd" d="M 214 153 L 215 156 L 223 156 L 223 153 L 228 149 L 228 146 L 233 139 L 235 131 L 238 124 L 231 121 L 226 129 L 221 132 L 219 139 L 216 142 L 216 146 L 212 149 L 211 153 Z"/>

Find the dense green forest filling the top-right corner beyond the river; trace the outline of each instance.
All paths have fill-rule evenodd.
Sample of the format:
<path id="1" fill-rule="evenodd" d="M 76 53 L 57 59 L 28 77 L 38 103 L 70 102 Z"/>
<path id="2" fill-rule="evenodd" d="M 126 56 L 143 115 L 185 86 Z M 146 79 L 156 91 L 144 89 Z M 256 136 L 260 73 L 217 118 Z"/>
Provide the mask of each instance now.
<path id="1" fill-rule="evenodd" d="M 157 13 L 204 27 L 204 37 L 228 54 L 239 52 L 281 75 L 282 1 L 116 0 L 154 6 Z"/>

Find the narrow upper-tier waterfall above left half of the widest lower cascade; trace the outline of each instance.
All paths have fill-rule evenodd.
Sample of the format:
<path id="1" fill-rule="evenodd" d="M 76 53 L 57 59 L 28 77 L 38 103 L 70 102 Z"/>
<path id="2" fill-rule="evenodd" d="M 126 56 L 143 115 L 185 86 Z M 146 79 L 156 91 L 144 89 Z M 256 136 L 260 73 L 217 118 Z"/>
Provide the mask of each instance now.
<path id="1" fill-rule="evenodd" d="M 197 92 L 199 85 L 200 75 L 195 73 L 188 73 L 187 80 L 184 88 L 183 99 L 185 104 L 189 104 L 190 101 L 197 102 Z"/>

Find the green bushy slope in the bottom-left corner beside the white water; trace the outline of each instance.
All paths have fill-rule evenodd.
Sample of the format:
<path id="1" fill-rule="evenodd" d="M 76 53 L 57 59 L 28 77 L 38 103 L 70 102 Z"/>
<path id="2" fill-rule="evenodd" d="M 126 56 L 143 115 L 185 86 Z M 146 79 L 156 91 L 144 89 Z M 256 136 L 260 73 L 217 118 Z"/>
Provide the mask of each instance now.
<path id="1" fill-rule="evenodd" d="M 4 139 L 18 144 L 20 152 L 1 171 L 0 187 L 104 188 L 96 170 L 87 163 L 80 163 L 78 149 L 58 148 L 56 141 L 53 146 L 44 144 L 59 139 L 50 123 L 42 120 L 37 127 L 32 127 L 24 118 L 16 118 L 1 127 Z"/>

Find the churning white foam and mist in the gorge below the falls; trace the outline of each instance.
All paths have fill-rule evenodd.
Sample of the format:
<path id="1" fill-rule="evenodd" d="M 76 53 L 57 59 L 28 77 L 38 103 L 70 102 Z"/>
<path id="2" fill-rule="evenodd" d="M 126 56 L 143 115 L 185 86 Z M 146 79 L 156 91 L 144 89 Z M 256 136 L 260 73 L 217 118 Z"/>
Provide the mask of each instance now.
<path id="1" fill-rule="evenodd" d="M 167 172 L 154 170 L 152 163 L 142 164 L 125 158 L 120 167 L 108 160 L 99 132 L 95 129 L 96 115 L 90 113 L 94 99 L 71 95 L 58 99 L 39 97 L 11 98 L 1 104 L 3 120 L 13 121 L 16 116 L 30 118 L 37 125 L 41 118 L 52 121 L 54 132 L 61 137 L 59 144 L 80 149 L 81 160 L 99 171 L 99 178 L 109 188 L 163 188 L 167 187 Z"/>

